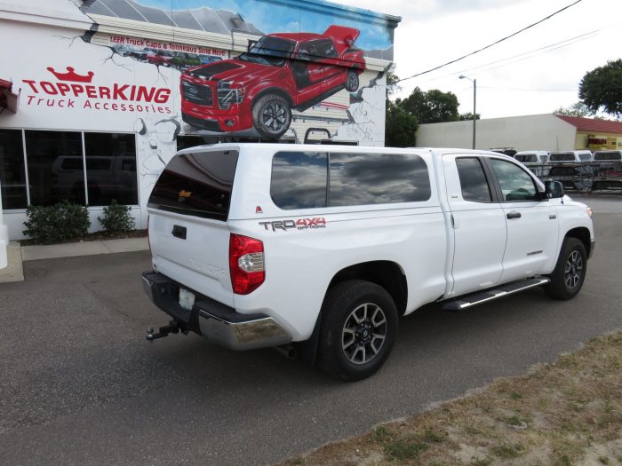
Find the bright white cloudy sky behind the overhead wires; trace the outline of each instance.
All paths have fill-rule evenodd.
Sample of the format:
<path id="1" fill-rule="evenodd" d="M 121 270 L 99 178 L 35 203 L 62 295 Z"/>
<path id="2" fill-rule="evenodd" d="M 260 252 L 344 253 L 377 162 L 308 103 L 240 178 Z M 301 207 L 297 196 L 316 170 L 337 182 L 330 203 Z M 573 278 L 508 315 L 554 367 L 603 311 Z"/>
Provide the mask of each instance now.
<path id="1" fill-rule="evenodd" d="M 407 77 L 480 49 L 545 18 L 572 0 L 385 0 L 382 3 L 339 0 L 339 3 L 402 16 L 395 30 L 395 62 L 396 74 Z M 477 112 L 482 118 L 543 114 L 557 107 L 568 107 L 578 100 L 578 83 L 587 71 L 604 65 L 607 60 L 622 58 L 621 26 L 622 1 L 584 0 L 474 57 L 403 82 L 400 97 L 406 97 L 415 86 L 424 91 L 452 91 L 458 96 L 460 112 L 470 112 L 473 84 L 458 78 L 465 74 L 477 80 Z M 501 62 L 482 67 L 594 30 L 599 32 L 554 51 L 516 58 L 510 60 L 515 61 L 511 64 Z"/>

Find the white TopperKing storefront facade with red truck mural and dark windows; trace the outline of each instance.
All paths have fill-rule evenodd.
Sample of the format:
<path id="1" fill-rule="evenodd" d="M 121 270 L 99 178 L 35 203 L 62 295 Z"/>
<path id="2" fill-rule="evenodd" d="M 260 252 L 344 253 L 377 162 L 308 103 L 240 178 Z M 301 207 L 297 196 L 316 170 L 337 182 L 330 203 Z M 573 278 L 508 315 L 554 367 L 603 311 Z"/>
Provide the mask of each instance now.
<path id="1" fill-rule="evenodd" d="M 0 0 L 0 225 L 23 238 L 28 205 L 67 199 L 92 230 L 113 200 L 144 228 L 187 146 L 383 146 L 399 20 L 323 0 Z"/>

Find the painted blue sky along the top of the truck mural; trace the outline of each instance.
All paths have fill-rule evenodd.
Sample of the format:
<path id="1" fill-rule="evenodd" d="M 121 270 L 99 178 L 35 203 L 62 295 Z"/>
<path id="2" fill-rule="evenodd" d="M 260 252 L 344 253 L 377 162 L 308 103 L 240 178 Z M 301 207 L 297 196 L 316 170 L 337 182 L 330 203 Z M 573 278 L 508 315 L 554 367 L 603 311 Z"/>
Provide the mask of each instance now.
<path id="1" fill-rule="evenodd" d="M 387 49 L 392 45 L 387 29 L 347 17 L 334 17 L 318 12 L 302 12 L 297 8 L 262 2 L 258 0 L 135 0 L 145 6 L 163 10 L 188 10 L 202 6 L 214 10 L 239 12 L 244 20 L 267 34 L 276 32 L 322 33 L 332 24 L 349 26 L 361 31 L 356 45 L 364 50 Z M 343 7 L 347 9 L 347 6 Z M 347 16 L 347 14 L 346 14 Z"/>

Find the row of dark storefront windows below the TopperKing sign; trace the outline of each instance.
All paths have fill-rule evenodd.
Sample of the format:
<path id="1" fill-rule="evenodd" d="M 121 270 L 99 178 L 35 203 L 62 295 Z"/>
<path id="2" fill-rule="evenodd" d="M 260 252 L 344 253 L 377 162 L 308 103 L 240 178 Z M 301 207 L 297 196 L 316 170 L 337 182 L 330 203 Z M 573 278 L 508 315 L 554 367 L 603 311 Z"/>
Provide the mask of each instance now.
<path id="1" fill-rule="evenodd" d="M 106 206 L 112 200 L 135 205 L 136 138 L 125 133 L 0 130 L 0 177 L 3 209 L 64 200 L 90 206 Z"/>

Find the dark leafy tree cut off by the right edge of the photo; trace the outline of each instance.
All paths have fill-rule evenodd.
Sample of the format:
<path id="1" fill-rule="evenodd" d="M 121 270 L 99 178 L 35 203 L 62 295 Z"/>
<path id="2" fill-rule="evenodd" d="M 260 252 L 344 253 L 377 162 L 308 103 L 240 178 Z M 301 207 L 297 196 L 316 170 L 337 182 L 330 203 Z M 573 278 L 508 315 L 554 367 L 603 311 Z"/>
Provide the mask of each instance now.
<path id="1" fill-rule="evenodd" d="M 579 83 L 578 98 L 594 114 L 602 109 L 622 117 L 622 59 L 588 71 Z"/>

